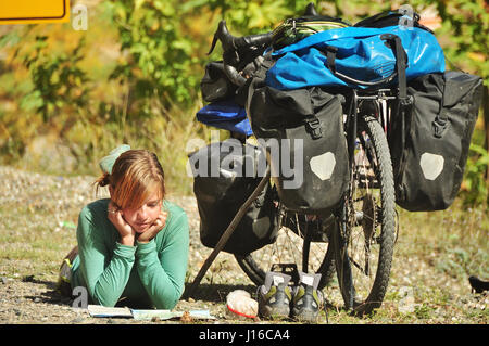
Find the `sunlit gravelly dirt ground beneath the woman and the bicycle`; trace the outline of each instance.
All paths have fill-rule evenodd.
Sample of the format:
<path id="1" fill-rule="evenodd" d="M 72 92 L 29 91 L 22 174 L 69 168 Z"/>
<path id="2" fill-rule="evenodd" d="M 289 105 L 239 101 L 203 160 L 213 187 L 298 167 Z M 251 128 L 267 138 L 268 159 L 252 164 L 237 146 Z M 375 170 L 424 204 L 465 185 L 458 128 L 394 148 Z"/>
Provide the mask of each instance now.
<path id="1" fill-rule="evenodd" d="M 120 323 L 183 323 L 183 321 L 136 321 L 124 318 L 91 318 L 87 310 L 74 309 L 73 300 L 62 297 L 55 290 L 57 269 L 60 259 L 72 246 L 74 222 L 83 205 L 93 200 L 87 187 L 93 177 L 62 178 L 15 170 L 0 166 L 0 323 L 34 324 L 120 324 Z M 46 196 L 46 192 L 49 195 Z M 45 197 L 41 197 L 45 196 Z M 181 205 L 189 217 L 190 258 L 187 285 L 189 285 L 211 249 L 199 239 L 199 214 L 192 196 L 172 196 Z M 28 201 L 28 203 L 27 203 Z M 21 205 L 28 204 L 35 213 L 28 213 Z M 22 215 L 21 213 L 26 213 Z M 65 222 L 62 220 L 73 220 Z M 64 222 L 64 223 L 63 223 Z M 41 225 L 35 228 L 34 225 Z M 33 229 L 33 230 L 32 230 Z M 53 242 L 53 255 L 43 248 L 49 244 L 34 246 L 28 234 L 47 230 Z M 8 234 L 13 234 L 8 238 Z M 58 234 L 58 235 L 57 235 Z M 61 235 L 60 235 L 61 234 Z M 12 241 L 15 239 L 16 241 Z M 49 243 L 49 242 L 48 242 Z M 403 246 L 402 241 L 397 246 Z M 23 258 L 25 254 L 30 257 Z M 60 251 L 61 248 L 61 251 Z M 18 251 L 18 252 L 17 252 Z M 39 251 L 38 253 L 36 251 Z M 17 254 L 17 255 L 15 255 Z M 37 255 L 39 254 L 39 255 Z M 453 278 L 434 265 L 437 254 L 418 258 L 405 256 L 401 251 L 394 257 L 389 290 L 383 307 L 374 317 L 356 318 L 341 309 L 336 299 L 335 283 L 325 290 L 328 303 L 327 318 L 323 313 L 319 323 L 436 323 L 436 324 L 487 324 L 489 296 L 471 292 L 466 278 Z M 396 256 L 396 255 L 394 255 Z M 26 256 L 27 257 L 27 256 Z M 38 262 L 48 260 L 48 264 Z M 47 271 L 42 268 L 50 268 Z M 402 297 L 405 287 L 413 295 Z M 256 286 L 246 277 L 234 257 L 221 253 L 190 298 L 181 299 L 176 311 L 209 310 L 216 320 L 205 323 L 290 323 L 291 321 L 237 320 L 226 311 L 226 296 L 229 292 L 243 289 L 254 294 Z M 336 298 L 335 298 L 336 297 Z M 411 299 L 411 300 L 410 300 Z M 339 302 L 339 303 L 338 303 Z M 411 305 L 411 306 L 410 306 Z M 405 309 L 408 307 L 408 309 Z M 199 321 L 192 321 L 198 323 Z"/>

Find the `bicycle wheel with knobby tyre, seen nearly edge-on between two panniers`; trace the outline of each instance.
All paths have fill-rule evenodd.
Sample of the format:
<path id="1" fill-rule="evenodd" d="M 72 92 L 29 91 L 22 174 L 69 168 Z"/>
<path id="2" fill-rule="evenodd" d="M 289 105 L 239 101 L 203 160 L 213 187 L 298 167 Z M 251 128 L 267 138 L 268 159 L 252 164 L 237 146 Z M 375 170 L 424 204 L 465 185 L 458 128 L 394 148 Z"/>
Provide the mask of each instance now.
<path id="1" fill-rule="evenodd" d="M 387 140 L 374 117 L 359 118 L 350 191 L 333 234 L 338 283 L 347 309 L 369 313 L 387 291 L 396 233 L 396 196 Z"/>

